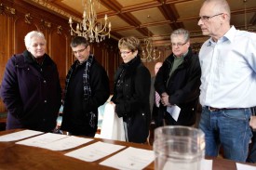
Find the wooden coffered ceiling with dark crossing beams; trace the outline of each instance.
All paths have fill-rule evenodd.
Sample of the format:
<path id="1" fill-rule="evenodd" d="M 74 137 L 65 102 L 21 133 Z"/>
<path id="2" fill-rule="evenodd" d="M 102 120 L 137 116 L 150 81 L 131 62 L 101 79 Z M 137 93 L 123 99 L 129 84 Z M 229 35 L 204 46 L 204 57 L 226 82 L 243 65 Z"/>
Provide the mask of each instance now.
<path id="1" fill-rule="evenodd" d="M 29 1 L 29 0 L 28 0 Z M 83 0 L 30 0 L 45 6 L 63 18 L 81 20 Z M 95 7 L 98 20 L 107 14 L 112 24 L 111 36 L 119 39 L 134 35 L 151 36 L 155 46 L 167 45 L 169 34 L 178 28 L 191 32 L 192 43 L 203 42 L 197 19 L 204 0 L 100 0 Z M 231 7 L 231 24 L 238 29 L 256 32 L 256 0 L 227 0 Z M 44 3 L 42 3 L 44 2 Z M 246 15 L 245 15 L 246 14 Z"/>

